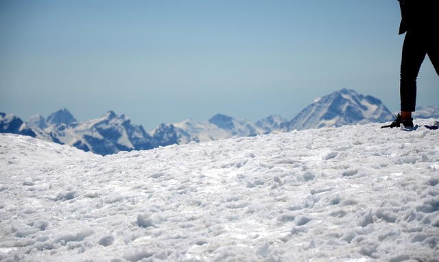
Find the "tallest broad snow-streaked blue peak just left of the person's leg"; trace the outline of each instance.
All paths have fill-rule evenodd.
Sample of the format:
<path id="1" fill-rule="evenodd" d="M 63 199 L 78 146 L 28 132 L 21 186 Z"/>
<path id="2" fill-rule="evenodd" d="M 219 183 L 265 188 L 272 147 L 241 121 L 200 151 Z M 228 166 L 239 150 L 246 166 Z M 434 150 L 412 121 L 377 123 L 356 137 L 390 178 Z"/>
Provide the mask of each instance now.
<path id="1" fill-rule="evenodd" d="M 305 130 L 355 123 L 393 120 L 392 113 L 381 101 L 370 95 L 359 95 L 342 89 L 318 99 L 302 110 L 290 123 L 288 130 Z"/>

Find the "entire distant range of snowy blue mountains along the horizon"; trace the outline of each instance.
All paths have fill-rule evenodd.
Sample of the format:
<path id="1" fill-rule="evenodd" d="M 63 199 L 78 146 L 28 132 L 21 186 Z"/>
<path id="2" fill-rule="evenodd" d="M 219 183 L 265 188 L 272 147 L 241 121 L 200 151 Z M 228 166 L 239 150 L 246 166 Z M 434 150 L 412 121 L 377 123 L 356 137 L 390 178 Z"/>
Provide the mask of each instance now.
<path id="1" fill-rule="evenodd" d="M 419 108 L 416 114 L 419 118 L 439 117 L 439 108 Z M 80 122 L 64 108 L 47 118 L 36 115 L 26 123 L 15 115 L 0 113 L 0 132 L 33 136 L 71 145 L 86 152 L 107 155 L 192 141 L 206 142 L 233 136 L 255 136 L 393 119 L 392 112 L 379 99 L 342 89 L 315 99 L 291 121 L 271 115 L 253 123 L 246 119 L 217 114 L 202 122 L 187 119 L 179 123 L 162 123 L 154 130 L 146 132 L 142 126 L 132 123 L 129 117 L 118 116 L 112 111 L 98 119 Z"/>

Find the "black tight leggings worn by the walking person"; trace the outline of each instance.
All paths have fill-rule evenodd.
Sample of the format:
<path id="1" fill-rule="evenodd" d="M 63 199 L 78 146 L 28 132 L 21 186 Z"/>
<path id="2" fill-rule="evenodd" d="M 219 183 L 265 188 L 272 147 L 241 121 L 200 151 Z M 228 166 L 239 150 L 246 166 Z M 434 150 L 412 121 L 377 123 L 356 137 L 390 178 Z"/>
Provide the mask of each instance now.
<path id="1" fill-rule="evenodd" d="M 425 55 L 439 75 L 439 40 L 436 32 L 409 29 L 405 33 L 401 58 L 401 111 L 414 112 L 416 107 L 416 78 Z"/>

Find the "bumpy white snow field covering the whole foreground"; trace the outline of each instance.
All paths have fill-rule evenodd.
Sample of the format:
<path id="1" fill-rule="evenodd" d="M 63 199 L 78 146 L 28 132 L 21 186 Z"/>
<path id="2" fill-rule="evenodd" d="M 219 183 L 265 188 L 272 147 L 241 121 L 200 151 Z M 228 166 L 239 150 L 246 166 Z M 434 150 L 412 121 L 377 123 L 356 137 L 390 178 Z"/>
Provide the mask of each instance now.
<path id="1" fill-rule="evenodd" d="M 1 134 L 0 260 L 439 261 L 439 130 L 379 126 L 105 157 Z"/>

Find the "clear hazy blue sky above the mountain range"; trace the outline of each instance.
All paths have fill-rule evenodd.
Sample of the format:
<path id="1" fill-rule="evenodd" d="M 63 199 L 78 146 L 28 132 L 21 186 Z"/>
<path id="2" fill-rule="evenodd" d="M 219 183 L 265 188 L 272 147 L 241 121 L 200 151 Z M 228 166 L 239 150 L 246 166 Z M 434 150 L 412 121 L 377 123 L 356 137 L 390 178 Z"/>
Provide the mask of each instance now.
<path id="1" fill-rule="evenodd" d="M 292 119 L 349 88 L 399 110 L 396 0 L 0 0 L 0 112 L 114 110 L 151 130 L 216 113 Z M 426 58 L 418 105 L 439 106 Z"/>

